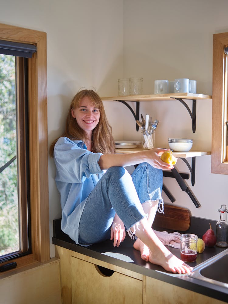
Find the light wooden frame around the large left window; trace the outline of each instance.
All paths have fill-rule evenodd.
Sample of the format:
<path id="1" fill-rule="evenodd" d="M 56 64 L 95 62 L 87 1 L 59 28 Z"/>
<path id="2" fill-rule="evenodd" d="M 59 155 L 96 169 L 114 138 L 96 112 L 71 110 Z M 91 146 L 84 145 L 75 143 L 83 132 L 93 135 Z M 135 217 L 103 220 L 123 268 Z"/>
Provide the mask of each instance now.
<path id="1" fill-rule="evenodd" d="M 19 100 L 25 92 L 20 82 L 24 81 L 24 73 L 28 72 L 28 99 L 27 110 L 25 104 L 19 102 L 16 115 L 18 117 L 17 127 L 22 132 L 22 142 L 18 143 L 17 158 L 18 162 L 18 181 L 20 185 L 24 182 L 24 191 L 19 191 L 19 232 L 20 238 L 19 249 L 26 251 L 29 243 L 29 233 L 26 223 L 28 213 L 27 204 L 24 201 L 30 191 L 30 236 L 31 236 L 31 253 L 14 258 L 12 261 L 17 262 L 17 267 L 32 264 L 36 261 L 48 261 L 50 258 L 49 250 L 49 204 L 48 204 L 48 145 L 47 145 L 47 54 L 46 54 L 46 33 L 33 31 L 29 29 L 18 28 L 14 26 L 0 24 L 0 39 L 5 41 L 16 41 L 19 43 L 28 43 L 36 46 L 37 51 L 32 58 L 24 60 L 16 57 L 15 69 L 17 85 L 16 95 Z M 27 62 L 27 67 L 26 67 Z M 19 88 L 19 89 L 18 89 Z M 26 114 L 27 111 L 27 114 Z M 28 119 L 26 119 L 26 115 Z M 21 125 L 20 123 L 23 122 Z M 28 123 L 28 135 L 24 123 Z M 22 130 L 23 129 L 23 130 Z M 22 131 L 21 131 L 22 130 Z M 25 133 L 24 133 L 25 132 Z M 27 142 L 26 142 L 27 136 Z M 29 157 L 26 158 L 26 151 Z M 28 160 L 29 174 L 22 170 L 26 167 Z M 12 162 L 13 163 L 13 162 Z M 6 169 L 5 169 L 6 170 Z M 26 190 L 26 191 L 25 191 Z M 22 193 L 23 192 L 23 193 Z M 21 197 L 24 197 L 24 199 Z M 28 246 L 27 246 L 28 247 Z M 28 252 L 27 252 L 28 253 Z M 9 258 L 12 258 L 9 255 Z M 3 262 L 2 264 L 6 264 Z"/>

